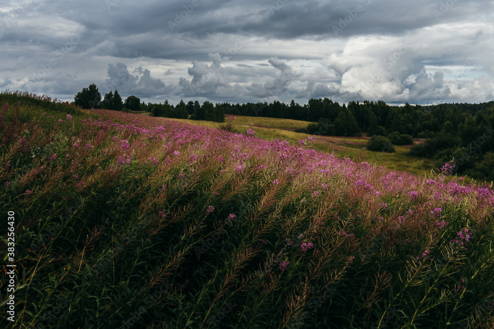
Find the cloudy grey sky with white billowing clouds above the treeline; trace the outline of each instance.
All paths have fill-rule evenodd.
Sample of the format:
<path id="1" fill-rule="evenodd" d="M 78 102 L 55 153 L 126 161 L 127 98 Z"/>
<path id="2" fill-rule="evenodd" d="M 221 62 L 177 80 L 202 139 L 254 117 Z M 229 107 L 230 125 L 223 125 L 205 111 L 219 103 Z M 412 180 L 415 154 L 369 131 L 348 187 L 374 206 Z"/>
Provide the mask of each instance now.
<path id="1" fill-rule="evenodd" d="M 0 89 L 146 103 L 494 99 L 493 0 L 2 0 Z"/>

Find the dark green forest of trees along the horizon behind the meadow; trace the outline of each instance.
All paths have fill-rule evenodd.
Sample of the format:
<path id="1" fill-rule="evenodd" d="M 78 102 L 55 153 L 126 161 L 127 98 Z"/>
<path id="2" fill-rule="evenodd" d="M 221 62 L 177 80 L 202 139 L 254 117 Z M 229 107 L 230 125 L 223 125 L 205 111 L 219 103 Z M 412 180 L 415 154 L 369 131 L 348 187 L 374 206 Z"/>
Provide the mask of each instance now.
<path id="1" fill-rule="evenodd" d="M 88 92 L 91 86 L 84 90 Z M 93 94 L 97 92 L 94 87 Z M 412 144 L 415 139 L 410 155 L 434 159 L 438 168 L 454 160 L 453 173 L 494 181 L 494 101 L 392 106 L 381 100 L 340 105 L 329 98 L 310 99 L 304 105 L 293 100 L 290 104 L 274 101 L 215 105 L 208 101 L 201 105 L 198 101 L 185 103 L 181 100 L 173 106 L 168 101 L 146 105 L 135 96 L 127 97 L 123 103 L 117 91 L 115 95 L 111 93 L 106 94 L 102 102 L 96 102 L 96 106 L 93 102 L 92 108 L 143 110 L 153 116 L 216 122 L 224 122 L 225 114 L 285 118 L 309 121 L 305 129 L 298 130 L 307 134 L 384 136 L 395 145 Z M 75 104 L 79 106 L 82 105 L 78 104 L 80 94 L 75 98 Z"/>

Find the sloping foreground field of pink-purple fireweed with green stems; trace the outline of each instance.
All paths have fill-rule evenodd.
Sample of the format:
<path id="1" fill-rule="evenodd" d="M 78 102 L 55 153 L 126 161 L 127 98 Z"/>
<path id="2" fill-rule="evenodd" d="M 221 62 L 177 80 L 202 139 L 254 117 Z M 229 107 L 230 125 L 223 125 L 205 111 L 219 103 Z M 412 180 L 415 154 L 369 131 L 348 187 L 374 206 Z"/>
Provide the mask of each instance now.
<path id="1" fill-rule="evenodd" d="M 2 328 L 494 325 L 494 192 L 445 183 L 452 164 L 414 177 L 19 92 L 0 109 Z"/>

